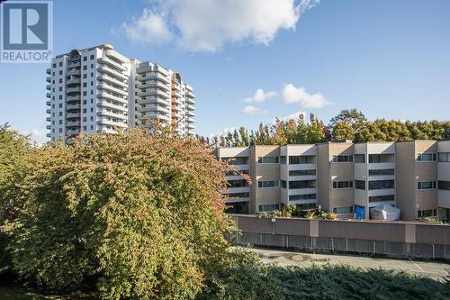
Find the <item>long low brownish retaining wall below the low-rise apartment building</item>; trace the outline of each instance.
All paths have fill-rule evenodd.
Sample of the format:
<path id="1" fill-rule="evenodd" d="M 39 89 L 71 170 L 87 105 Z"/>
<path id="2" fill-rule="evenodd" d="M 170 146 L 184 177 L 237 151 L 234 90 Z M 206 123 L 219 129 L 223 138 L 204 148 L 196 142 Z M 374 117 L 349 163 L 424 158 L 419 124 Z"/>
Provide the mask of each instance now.
<path id="1" fill-rule="evenodd" d="M 450 260 L 450 225 L 231 217 L 239 245 Z"/>

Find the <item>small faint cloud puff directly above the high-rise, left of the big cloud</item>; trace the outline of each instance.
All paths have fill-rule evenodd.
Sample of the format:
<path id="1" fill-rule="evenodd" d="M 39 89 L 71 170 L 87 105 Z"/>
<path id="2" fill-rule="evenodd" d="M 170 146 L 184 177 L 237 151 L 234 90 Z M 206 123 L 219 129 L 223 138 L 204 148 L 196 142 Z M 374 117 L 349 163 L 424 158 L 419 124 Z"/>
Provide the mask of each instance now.
<path id="1" fill-rule="evenodd" d="M 148 9 L 144 9 L 142 15 L 130 24 L 124 23 L 123 30 L 132 41 L 159 44 L 172 40 L 172 32 L 167 28 L 164 16 Z"/>

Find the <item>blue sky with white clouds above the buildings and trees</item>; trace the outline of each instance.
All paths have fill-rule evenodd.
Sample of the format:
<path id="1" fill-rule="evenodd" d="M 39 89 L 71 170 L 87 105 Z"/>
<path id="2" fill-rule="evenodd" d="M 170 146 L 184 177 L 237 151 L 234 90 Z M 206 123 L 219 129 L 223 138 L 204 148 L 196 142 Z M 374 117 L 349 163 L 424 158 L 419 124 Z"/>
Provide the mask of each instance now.
<path id="1" fill-rule="evenodd" d="M 56 0 L 54 50 L 111 43 L 181 72 L 205 136 L 298 112 L 328 122 L 353 107 L 369 119 L 450 119 L 450 1 L 206 3 Z M 46 67 L 0 64 L 0 122 L 39 141 Z"/>

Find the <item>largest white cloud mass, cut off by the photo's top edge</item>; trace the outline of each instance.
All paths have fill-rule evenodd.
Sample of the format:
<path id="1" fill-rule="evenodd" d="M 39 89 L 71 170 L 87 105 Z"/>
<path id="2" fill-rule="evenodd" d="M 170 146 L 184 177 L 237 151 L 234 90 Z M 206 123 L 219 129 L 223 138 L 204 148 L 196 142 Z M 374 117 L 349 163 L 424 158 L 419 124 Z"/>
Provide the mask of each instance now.
<path id="1" fill-rule="evenodd" d="M 124 24 L 132 40 L 170 41 L 191 51 L 220 50 L 226 42 L 268 45 L 280 30 L 295 30 L 319 0 L 153 0 L 152 11 Z M 157 13 L 153 13 L 157 12 Z"/>

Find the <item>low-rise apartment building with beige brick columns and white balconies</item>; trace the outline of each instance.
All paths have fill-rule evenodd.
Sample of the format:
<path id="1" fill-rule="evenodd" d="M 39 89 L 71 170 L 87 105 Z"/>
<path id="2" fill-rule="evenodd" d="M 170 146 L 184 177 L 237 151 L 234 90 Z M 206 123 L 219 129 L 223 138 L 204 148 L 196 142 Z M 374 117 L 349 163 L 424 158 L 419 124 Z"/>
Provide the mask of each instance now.
<path id="1" fill-rule="evenodd" d="M 324 142 L 218 148 L 251 178 L 227 175 L 233 213 L 321 205 L 339 218 L 370 218 L 392 205 L 402 220 L 450 217 L 450 141 Z"/>

